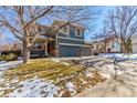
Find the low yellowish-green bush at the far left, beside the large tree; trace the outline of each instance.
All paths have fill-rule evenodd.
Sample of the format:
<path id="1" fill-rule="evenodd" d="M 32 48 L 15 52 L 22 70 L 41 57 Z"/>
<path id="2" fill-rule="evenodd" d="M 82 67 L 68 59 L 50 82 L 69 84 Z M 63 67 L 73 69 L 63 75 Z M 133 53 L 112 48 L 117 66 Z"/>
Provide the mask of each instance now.
<path id="1" fill-rule="evenodd" d="M 0 55 L 0 61 L 14 61 L 18 59 L 18 55 L 14 53 L 2 54 Z"/>

